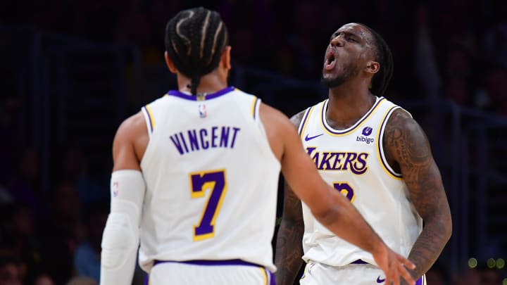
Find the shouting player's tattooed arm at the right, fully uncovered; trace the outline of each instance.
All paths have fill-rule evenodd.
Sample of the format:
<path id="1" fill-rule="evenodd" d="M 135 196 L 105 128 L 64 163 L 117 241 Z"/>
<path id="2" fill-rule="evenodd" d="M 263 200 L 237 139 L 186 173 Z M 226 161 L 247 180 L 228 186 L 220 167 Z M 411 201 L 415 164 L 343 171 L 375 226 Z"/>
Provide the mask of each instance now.
<path id="1" fill-rule="evenodd" d="M 408 260 L 416 265 L 411 274 L 418 279 L 430 270 L 451 237 L 451 210 L 430 143 L 406 111 L 393 112 L 383 145 L 389 164 L 401 172 L 410 199 L 424 221 L 423 232 L 408 255 Z"/>

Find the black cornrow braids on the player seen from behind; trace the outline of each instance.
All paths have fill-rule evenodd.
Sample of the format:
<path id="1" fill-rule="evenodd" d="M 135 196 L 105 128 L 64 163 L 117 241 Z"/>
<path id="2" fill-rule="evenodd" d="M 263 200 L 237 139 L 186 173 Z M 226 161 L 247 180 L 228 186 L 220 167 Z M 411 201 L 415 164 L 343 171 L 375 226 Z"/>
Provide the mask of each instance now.
<path id="1" fill-rule="evenodd" d="M 220 14 L 204 7 L 180 11 L 165 27 L 165 51 L 175 68 L 192 80 L 194 95 L 201 76 L 218 66 L 227 44 L 227 27 Z"/>

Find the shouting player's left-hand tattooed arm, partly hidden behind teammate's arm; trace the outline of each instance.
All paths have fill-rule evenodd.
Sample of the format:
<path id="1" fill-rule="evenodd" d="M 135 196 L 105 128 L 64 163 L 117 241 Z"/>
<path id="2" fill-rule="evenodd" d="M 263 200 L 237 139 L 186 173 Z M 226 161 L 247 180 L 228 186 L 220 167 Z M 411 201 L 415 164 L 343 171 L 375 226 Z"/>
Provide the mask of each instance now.
<path id="1" fill-rule="evenodd" d="M 291 122 L 299 127 L 304 111 L 294 115 Z M 282 222 L 278 229 L 275 265 L 277 267 L 276 281 L 280 285 L 292 285 L 301 269 L 303 260 L 303 213 L 301 201 L 294 194 L 287 182 L 284 184 Z"/>

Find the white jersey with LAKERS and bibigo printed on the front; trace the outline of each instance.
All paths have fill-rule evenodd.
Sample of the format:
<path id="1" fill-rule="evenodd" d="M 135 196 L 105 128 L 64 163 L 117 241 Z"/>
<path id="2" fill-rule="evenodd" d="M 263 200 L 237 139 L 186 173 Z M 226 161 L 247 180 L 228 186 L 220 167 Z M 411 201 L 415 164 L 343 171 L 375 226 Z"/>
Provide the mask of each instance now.
<path id="1" fill-rule="evenodd" d="M 389 115 L 400 107 L 377 98 L 361 120 L 337 130 L 326 122 L 327 102 L 308 108 L 303 115 L 299 134 L 306 152 L 323 179 L 349 198 L 387 246 L 408 256 L 423 222 L 408 199 L 405 182 L 388 165 L 382 148 Z M 315 220 L 304 203 L 303 219 L 304 260 L 332 266 L 358 259 L 375 264 L 370 253 L 335 236 Z"/>

